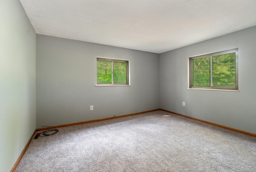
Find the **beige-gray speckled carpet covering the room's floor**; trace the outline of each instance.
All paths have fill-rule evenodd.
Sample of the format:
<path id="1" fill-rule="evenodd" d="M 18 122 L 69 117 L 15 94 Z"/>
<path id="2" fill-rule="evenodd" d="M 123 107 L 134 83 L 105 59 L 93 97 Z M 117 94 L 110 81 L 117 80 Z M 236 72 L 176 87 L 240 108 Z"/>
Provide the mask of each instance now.
<path id="1" fill-rule="evenodd" d="M 256 138 L 164 111 L 59 128 L 16 172 L 256 172 Z"/>

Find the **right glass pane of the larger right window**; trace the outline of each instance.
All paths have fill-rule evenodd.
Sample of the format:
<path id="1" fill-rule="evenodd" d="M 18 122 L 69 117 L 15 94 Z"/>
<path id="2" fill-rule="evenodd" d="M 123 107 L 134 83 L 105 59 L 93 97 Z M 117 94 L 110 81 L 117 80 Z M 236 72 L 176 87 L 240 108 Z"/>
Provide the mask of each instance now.
<path id="1" fill-rule="evenodd" d="M 212 86 L 236 87 L 236 53 L 212 56 Z"/>

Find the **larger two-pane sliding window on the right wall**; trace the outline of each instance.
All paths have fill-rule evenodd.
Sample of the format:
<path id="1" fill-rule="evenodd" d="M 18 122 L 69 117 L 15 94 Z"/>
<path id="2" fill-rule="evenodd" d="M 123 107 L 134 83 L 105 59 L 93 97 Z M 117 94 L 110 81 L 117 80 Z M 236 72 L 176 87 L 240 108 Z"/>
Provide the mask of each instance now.
<path id="1" fill-rule="evenodd" d="M 238 90 L 238 49 L 190 57 L 190 88 Z"/>

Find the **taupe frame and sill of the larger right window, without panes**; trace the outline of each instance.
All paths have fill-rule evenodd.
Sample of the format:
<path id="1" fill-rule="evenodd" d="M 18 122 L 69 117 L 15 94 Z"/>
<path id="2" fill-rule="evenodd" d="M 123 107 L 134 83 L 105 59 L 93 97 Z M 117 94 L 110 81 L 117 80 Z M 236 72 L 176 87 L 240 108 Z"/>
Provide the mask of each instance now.
<path id="1" fill-rule="evenodd" d="M 236 53 L 236 86 L 235 87 L 213 87 L 212 86 L 212 56 L 228 54 L 228 53 Z M 194 59 L 201 59 L 201 58 L 205 58 L 205 57 L 210 57 L 210 86 L 193 86 L 193 63 L 192 63 L 192 61 Z M 189 71 L 189 75 L 188 75 L 189 76 L 189 78 L 188 78 L 189 89 L 238 91 L 238 48 L 189 57 L 188 65 L 189 65 L 189 69 L 188 69 L 188 71 Z"/>

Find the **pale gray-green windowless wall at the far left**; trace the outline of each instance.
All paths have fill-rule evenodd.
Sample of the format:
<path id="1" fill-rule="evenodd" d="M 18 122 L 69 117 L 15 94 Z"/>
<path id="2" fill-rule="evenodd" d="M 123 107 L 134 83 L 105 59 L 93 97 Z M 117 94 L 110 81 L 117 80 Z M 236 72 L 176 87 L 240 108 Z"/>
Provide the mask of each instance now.
<path id="1" fill-rule="evenodd" d="M 36 33 L 18 0 L 0 1 L 0 171 L 36 129 Z"/>

